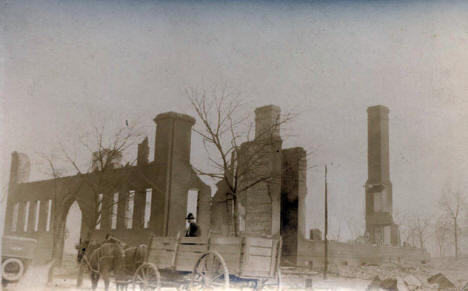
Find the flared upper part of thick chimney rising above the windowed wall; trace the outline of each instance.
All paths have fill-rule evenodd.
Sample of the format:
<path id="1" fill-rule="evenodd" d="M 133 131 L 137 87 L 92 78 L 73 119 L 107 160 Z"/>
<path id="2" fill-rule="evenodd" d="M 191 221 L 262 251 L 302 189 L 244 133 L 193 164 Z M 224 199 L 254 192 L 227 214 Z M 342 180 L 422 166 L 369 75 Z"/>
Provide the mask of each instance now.
<path id="1" fill-rule="evenodd" d="M 154 161 L 166 165 L 170 159 L 190 163 L 195 119 L 186 114 L 166 112 L 156 116 L 154 122 L 157 125 Z"/>

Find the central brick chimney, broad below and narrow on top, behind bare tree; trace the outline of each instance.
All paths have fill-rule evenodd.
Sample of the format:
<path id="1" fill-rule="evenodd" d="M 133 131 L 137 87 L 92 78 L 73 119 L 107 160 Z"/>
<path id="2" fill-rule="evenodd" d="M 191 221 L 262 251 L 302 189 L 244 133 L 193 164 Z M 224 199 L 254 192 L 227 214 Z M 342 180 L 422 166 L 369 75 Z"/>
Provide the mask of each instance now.
<path id="1" fill-rule="evenodd" d="M 280 234 L 281 145 L 280 108 L 274 105 L 255 110 L 255 139 L 242 144 L 239 165 L 248 173 L 240 188 L 267 178 L 240 195 L 239 230 L 256 235 Z"/>

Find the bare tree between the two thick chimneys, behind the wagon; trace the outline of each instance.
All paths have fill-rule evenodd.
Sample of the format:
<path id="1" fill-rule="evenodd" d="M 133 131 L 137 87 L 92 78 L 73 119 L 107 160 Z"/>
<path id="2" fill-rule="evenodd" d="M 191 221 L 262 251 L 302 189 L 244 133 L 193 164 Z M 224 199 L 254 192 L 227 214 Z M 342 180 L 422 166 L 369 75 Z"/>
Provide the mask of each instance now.
<path id="1" fill-rule="evenodd" d="M 277 139 L 272 132 L 293 119 L 291 113 L 273 121 L 271 128 L 257 133 L 248 150 L 241 144 L 253 141 L 250 121 L 238 95 L 227 90 L 187 90 L 192 107 L 200 119 L 194 131 L 200 135 L 210 162 L 209 170 L 195 168 L 202 176 L 223 181 L 227 188 L 226 206 L 231 212 L 233 232 L 238 234 L 239 195 L 260 183 L 275 183 L 271 173 L 258 171 L 271 155 Z M 268 186 L 269 187 L 269 186 Z M 230 204 L 230 206 L 229 206 Z"/>

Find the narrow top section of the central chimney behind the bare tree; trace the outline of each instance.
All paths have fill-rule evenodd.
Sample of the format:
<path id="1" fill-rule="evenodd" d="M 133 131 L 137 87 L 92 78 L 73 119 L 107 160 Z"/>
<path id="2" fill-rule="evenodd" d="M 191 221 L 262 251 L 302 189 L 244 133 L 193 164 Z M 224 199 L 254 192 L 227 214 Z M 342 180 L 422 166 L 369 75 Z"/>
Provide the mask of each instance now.
<path id="1" fill-rule="evenodd" d="M 281 109 L 275 105 L 266 105 L 255 109 L 255 139 L 280 139 Z"/>

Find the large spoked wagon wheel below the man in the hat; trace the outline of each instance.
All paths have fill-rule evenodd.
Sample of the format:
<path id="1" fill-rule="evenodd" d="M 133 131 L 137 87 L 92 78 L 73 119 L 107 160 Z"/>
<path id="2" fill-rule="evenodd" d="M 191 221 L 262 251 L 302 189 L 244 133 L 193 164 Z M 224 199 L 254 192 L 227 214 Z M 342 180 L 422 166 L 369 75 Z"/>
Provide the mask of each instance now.
<path id="1" fill-rule="evenodd" d="M 190 290 L 228 290 L 229 271 L 223 257 L 209 251 L 198 259 L 193 269 Z"/>

